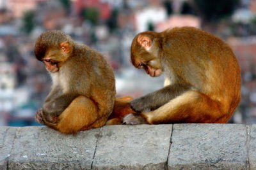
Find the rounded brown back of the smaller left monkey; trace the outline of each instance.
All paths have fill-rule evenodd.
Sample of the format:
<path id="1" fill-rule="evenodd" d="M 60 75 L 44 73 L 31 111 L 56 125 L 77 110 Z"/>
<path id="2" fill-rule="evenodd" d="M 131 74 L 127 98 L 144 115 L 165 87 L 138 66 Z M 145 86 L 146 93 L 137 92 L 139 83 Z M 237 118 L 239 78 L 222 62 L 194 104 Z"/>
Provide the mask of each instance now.
<path id="1" fill-rule="evenodd" d="M 74 48 L 76 55 L 73 56 L 75 57 L 70 57 L 66 61 L 67 65 L 73 65 L 70 74 L 76 74 L 74 76 L 76 80 L 72 80 L 76 82 L 73 88 L 78 94 L 92 99 L 99 105 L 99 109 L 108 113 L 107 116 L 109 116 L 113 110 L 116 95 L 113 69 L 104 57 L 92 48 L 86 45 L 76 45 Z"/>

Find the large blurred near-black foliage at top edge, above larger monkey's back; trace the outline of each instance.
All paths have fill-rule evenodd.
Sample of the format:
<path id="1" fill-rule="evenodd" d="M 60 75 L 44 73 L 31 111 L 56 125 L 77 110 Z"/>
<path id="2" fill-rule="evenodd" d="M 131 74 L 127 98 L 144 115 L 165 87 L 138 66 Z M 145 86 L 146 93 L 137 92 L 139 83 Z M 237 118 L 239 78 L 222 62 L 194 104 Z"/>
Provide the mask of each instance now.
<path id="1" fill-rule="evenodd" d="M 239 0 L 194 0 L 194 2 L 199 14 L 208 21 L 229 17 L 239 4 Z"/>

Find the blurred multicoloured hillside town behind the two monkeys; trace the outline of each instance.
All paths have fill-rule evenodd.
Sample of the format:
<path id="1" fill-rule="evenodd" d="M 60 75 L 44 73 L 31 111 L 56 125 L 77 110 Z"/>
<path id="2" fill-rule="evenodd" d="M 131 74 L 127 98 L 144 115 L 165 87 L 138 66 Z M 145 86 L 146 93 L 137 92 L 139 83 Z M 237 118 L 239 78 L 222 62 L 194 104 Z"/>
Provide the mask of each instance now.
<path id="1" fill-rule="evenodd" d="M 0 0 L 0 125 L 38 125 L 35 113 L 51 78 L 33 53 L 35 39 L 59 29 L 103 53 L 117 96 L 163 87 L 132 67 L 130 45 L 141 31 L 198 27 L 232 46 L 242 74 L 242 99 L 230 123 L 256 123 L 256 0 Z"/>

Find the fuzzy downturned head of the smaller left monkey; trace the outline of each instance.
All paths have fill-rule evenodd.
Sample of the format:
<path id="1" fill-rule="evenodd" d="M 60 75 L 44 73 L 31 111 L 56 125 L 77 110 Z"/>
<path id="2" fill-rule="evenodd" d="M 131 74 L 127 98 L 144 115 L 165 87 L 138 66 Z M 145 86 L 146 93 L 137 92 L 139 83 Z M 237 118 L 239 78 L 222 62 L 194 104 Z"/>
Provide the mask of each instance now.
<path id="1" fill-rule="evenodd" d="M 35 43 L 36 59 L 44 62 L 51 73 L 59 71 L 60 66 L 72 53 L 74 41 L 64 32 L 51 30 L 43 32 Z"/>

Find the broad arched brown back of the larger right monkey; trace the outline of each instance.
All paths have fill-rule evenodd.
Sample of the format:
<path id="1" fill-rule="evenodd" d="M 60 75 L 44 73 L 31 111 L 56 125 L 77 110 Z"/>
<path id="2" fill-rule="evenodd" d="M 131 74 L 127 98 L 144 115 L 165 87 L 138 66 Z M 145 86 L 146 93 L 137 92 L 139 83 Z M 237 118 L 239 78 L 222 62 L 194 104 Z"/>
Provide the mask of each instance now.
<path id="1" fill-rule="evenodd" d="M 241 73 L 230 46 L 193 27 L 161 34 L 165 37 L 163 50 L 168 53 L 164 62 L 175 69 L 175 76 L 184 76 L 195 89 L 223 103 L 227 112 L 233 112 L 240 101 Z"/>

